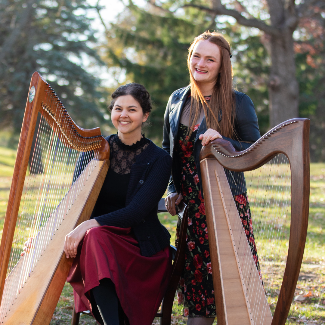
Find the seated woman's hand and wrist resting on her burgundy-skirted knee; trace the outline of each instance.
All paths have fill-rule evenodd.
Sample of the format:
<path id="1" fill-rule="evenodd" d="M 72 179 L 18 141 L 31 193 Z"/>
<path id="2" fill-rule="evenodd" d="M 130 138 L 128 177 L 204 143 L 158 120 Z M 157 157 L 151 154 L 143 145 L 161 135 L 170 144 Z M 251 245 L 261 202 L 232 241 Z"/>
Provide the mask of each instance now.
<path id="1" fill-rule="evenodd" d="M 99 226 L 100 224 L 96 219 L 90 219 L 82 222 L 78 227 L 69 232 L 69 234 L 65 236 L 64 240 L 65 257 L 76 257 L 78 245 L 84 238 L 86 231 Z"/>

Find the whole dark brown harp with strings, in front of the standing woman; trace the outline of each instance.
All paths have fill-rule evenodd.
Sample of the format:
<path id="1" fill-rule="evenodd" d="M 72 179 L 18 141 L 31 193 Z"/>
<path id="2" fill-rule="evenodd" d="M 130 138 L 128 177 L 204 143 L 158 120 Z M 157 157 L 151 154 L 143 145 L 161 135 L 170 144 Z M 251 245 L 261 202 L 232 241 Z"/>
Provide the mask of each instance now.
<path id="1" fill-rule="evenodd" d="M 308 226 L 309 123 L 288 120 L 240 152 L 223 139 L 201 150 L 218 325 L 286 322 Z"/>

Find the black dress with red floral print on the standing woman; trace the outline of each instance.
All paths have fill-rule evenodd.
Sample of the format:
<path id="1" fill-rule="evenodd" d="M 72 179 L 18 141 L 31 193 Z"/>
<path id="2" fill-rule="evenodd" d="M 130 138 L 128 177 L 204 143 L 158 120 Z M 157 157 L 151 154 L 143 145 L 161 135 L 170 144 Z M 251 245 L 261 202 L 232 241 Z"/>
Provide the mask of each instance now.
<path id="1" fill-rule="evenodd" d="M 212 280 L 208 229 L 206 226 L 204 200 L 201 194 L 199 176 L 194 162 L 193 146 L 200 124 L 187 139 L 188 126 L 180 124 L 177 135 L 177 152 L 182 175 L 181 194 L 188 204 L 187 248 L 185 255 L 184 276 L 180 279 L 177 297 L 178 305 L 183 305 L 185 317 L 216 317 L 214 288 Z M 250 243 L 250 247 L 259 270 L 253 224 L 246 192 L 234 197 Z M 178 242 L 180 222 L 177 224 L 176 243 Z"/>

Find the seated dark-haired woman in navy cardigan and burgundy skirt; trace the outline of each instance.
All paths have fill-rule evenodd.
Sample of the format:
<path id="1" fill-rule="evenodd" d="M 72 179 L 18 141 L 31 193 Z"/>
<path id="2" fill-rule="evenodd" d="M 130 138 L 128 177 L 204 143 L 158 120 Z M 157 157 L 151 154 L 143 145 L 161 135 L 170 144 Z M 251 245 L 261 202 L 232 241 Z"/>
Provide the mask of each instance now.
<path id="1" fill-rule="evenodd" d="M 149 93 L 138 84 L 111 95 L 108 136 L 110 167 L 91 219 L 65 239 L 75 257 L 67 281 L 76 312 L 91 310 L 100 324 L 151 325 L 171 272 L 170 234 L 157 216 L 168 185 L 171 157 L 141 134 L 151 110 Z M 89 159 L 83 154 L 76 176 Z"/>

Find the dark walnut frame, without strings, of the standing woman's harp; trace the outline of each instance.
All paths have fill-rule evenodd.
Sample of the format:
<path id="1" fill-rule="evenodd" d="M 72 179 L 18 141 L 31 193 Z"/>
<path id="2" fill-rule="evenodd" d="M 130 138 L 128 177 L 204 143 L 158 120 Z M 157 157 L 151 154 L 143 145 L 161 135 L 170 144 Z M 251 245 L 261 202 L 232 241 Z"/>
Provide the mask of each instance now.
<path id="1" fill-rule="evenodd" d="M 222 167 L 236 172 L 251 171 L 261 167 L 281 153 L 289 160 L 291 167 L 292 201 L 287 263 L 273 319 L 269 311 L 268 316 L 265 317 L 266 319 L 263 322 L 263 324 L 267 325 L 284 325 L 298 281 L 307 235 L 309 213 L 309 125 L 310 120 L 308 119 L 296 118 L 288 120 L 271 129 L 247 150 L 243 151 L 236 151 L 230 142 L 223 139 L 216 139 L 201 149 L 200 166 L 207 227 L 209 229 L 209 245 L 218 325 L 253 324 L 252 311 L 250 310 L 249 303 L 246 304 L 248 302 L 248 299 L 246 299 L 247 292 L 244 292 L 243 282 L 241 282 L 241 271 L 237 267 L 238 265 L 236 266 L 239 262 L 237 262 L 238 259 L 236 261 L 235 255 L 239 255 L 240 252 L 239 249 L 237 252 L 236 246 L 232 245 L 236 241 L 236 234 L 231 234 L 231 222 L 227 221 L 227 214 L 230 220 L 231 211 L 227 211 L 225 202 L 226 200 L 230 200 L 230 198 L 233 200 L 233 198 Z M 219 204 L 218 208 L 215 209 L 217 204 Z M 218 227 L 223 227 L 215 221 L 216 214 L 219 213 L 217 211 L 218 209 L 222 210 L 223 213 L 221 217 L 221 219 L 224 219 L 223 229 L 229 228 L 227 238 L 217 229 Z M 226 232 L 225 230 L 222 231 Z M 235 230 L 233 229 L 233 231 Z M 230 264 L 225 265 L 224 255 L 226 252 L 222 246 L 226 245 L 227 240 L 228 254 L 231 254 L 229 253 L 230 251 L 234 252 L 231 257 L 232 266 Z M 226 263 L 228 262 L 226 261 Z M 227 278 L 227 273 L 225 273 L 227 267 L 229 272 L 236 269 L 236 272 L 234 272 L 237 273 L 237 278 L 233 279 L 233 282 L 237 281 L 239 283 L 237 289 L 234 284 L 231 287 L 227 283 L 227 279 L 223 279 L 223 275 Z M 258 284 L 257 278 L 255 281 Z M 228 282 L 230 282 L 229 279 Z M 260 293 L 264 293 L 263 286 L 260 282 L 259 290 Z M 231 294 L 232 297 L 229 299 Z M 268 308 L 268 305 L 266 308 Z M 233 312 L 234 309 L 235 312 Z"/>

